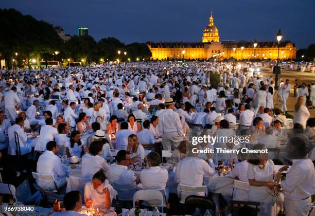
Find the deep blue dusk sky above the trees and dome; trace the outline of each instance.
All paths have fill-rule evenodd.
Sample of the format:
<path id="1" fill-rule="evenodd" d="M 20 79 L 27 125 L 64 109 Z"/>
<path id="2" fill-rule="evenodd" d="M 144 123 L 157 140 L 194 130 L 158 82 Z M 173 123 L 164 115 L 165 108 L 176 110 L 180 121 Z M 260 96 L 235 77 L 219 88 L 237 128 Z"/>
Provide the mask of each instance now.
<path id="1" fill-rule="evenodd" d="M 283 40 L 298 49 L 315 43 L 314 0 L 1 0 L 0 8 L 63 26 L 72 35 L 88 27 L 97 41 L 200 42 L 212 10 L 220 41 L 273 41 L 281 29 Z"/>

